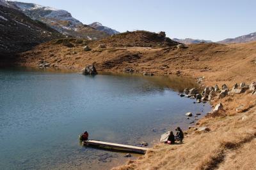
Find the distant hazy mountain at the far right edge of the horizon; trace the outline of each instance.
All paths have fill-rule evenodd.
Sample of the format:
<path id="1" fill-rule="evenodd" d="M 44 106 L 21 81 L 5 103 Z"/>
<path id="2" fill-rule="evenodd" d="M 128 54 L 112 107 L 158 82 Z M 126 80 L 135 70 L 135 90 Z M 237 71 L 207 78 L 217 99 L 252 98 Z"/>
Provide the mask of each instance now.
<path id="1" fill-rule="evenodd" d="M 228 43 L 247 43 L 250 41 L 256 41 L 256 32 L 246 34 L 244 36 L 239 36 L 237 38 L 227 38 L 217 43 L 228 44 Z"/>

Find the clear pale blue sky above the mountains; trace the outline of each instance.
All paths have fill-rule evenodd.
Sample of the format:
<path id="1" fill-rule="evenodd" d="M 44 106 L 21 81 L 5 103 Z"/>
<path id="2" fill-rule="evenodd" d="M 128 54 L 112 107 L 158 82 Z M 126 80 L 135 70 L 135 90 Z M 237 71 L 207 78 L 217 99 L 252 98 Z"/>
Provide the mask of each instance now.
<path id="1" fill-rule="evenodd" d="M 219 41 L 256 32 L 255 0 L 20 0 L 69 11 L 117 31 L 165 31 L 170 38 Z"/>

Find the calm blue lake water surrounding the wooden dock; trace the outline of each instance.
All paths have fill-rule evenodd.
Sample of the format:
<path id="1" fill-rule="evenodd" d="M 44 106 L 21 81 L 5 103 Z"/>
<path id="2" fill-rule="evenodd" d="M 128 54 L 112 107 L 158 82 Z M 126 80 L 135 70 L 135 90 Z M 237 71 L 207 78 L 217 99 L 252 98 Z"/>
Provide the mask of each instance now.
<path id="1" fill-rule="evenodd" d="M 152 146 L 188 111 L 209 104 L 178 96 L 193 79 L 178 76 L 84 76 L 34 69 L 0 69 L 0 169 L 108 169 L 125 153 L 81 146 L 78 136 Z M 136 158 L 137 155 L 133 156 Z M 133 157 L 133 158 L 134 158 Z"/>

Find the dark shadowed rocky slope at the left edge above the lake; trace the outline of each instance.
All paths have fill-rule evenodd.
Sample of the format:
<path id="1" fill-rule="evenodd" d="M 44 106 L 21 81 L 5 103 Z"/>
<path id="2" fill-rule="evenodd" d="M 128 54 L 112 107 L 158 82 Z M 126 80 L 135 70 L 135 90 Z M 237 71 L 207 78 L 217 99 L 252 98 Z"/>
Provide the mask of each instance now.
<path id="1" fill-rule="evenodd" d="M 59 32 L 42 22 L 31 20 L 19 10 L 0 5 L 0 55 L 26 51 L 61 37 Z"/>

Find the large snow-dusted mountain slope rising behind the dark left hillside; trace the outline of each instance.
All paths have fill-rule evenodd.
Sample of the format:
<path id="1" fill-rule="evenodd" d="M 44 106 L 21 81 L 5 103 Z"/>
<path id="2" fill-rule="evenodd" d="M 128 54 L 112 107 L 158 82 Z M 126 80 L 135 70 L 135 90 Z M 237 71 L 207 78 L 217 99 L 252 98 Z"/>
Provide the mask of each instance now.
<path id="1" fill-rule="evenodd" d="M 88 39 L 101 39 L 108 36 L 105 32 L 84 25 L 65 10 L 16 1 L 8 1 L 8 4 L 15 6 L 33 20 L 40 20 L 66 36 Z"/>

